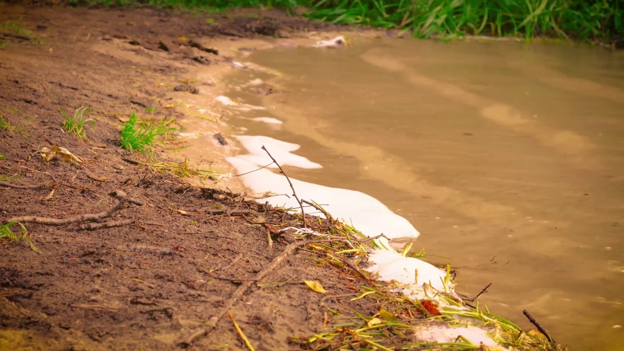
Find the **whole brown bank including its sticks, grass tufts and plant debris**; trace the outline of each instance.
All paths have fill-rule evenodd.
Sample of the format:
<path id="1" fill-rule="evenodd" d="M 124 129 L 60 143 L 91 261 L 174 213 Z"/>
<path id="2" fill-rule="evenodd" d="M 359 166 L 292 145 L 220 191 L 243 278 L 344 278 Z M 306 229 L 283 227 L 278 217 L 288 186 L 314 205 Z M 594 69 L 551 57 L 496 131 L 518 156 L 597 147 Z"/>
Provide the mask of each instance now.
<path id="1" fill-rule="evenodd" d="M 165 108 L 165 88 L 203 63 L 154 44 L 200 32 L 203 19 L 4 9 L 0 22 L 21 17 L 46 46 L 23 39 L 1 52 L 0 350 L 497 350 L 466 337 L 419 342 L 415 332 L 431 325 L 482 327 L 509 349 L 557 349 L 478 302 L 397 294 L 366 272 L 374 243 L 348 225 L 303 222 L 180 179 L 192 168 L 163 161 L 158 141 L 165 121 L 188 116 Z M 159 16 L 168 25 L 146 30 Z M 205 31 L 257 35 L 248 21 Z M 279 21 L 267 23 L 287 31 Z M 86 132 L 80 106 L 91 106 Z M 151 116 L 139 119 L 140 108 Z M 152 149 L 151 161 L 137 146 Z"/>

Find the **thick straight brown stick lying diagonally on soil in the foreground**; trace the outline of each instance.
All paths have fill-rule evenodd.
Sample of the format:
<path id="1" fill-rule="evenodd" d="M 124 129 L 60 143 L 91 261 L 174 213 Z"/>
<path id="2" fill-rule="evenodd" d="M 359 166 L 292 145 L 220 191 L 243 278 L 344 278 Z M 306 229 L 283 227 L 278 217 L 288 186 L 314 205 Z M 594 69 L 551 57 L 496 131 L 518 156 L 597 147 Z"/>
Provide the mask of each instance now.
<path id="1" fill-rule="evenodd" d="M 255 275 L 255 277 L 253 277 L 253 279 L 245 280 L 245 282 L 243 282 L 243 284 L 241 284 L 240 287 L 238 287 L 238 289 L 236 289 L 232 293 L 232 295 L 230 296 L 230 299 L 228 299 L 223 304 L 223 307 L 217 312 L 217 314 L 213 315 L 213 317 L 211 317 L 208 320 L 206 324 L 207 327 L 197 330 L 192 335 L 190 335 L 190 337 L 184 340 L 181 344 L 183 346 L 188 347 L 188 345 L 193 343 L 193 340 L 212 332 L 212 330 L 215 329 L 215 326 L 217 325 L 219 320 L 223 317 L 223 315 L 225 315 L 228 312 L 228 310 L 232 308 L 232 305 L 235 304 L 235 302 L 238 301 L 238 299 L 240 299 L 243 296 L 243 294 L 245 294 L 245 292 L 247 291 L 247 289 L 251 287 L 253 282 L 262 280 L 267 274 L 269 274 L 278 265 L 280 265 L 281 262 L 284 259 L 286 259 L 286 257 L 288 257 L 288 255 L 295 252 L 295 250 L 298 249 L 299 247 L 311 244 L 312 242 L 314 242 L 314 240 L 305 240 L 305 241 L 300 241 L 300 242 L 293 242 L 292 244 L 286 246 L 286 249 L 280 255 L 275 257 L 275 259 L 273 259 L 269 265 L 267 265 L 265 268 L 260 270 L 260 272 L 258 272 Z"/>

